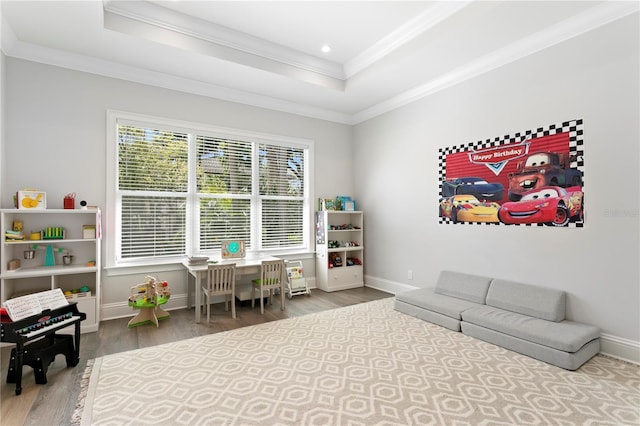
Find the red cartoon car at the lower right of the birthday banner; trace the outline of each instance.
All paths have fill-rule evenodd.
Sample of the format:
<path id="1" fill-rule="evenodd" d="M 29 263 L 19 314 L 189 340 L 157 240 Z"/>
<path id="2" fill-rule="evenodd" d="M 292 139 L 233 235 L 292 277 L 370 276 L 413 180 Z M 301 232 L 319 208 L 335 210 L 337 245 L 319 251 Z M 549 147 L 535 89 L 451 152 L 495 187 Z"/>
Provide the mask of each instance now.
<path id="1" fill-rule="evenodd" d="M 564 189 L 543 186 L 522 194 L 520 201 L 504 203 L 498 218 L 506 224 L 544 223 L 566 226 L 572 219 L 582 220 L 583 193 L 579 186 Z"/>

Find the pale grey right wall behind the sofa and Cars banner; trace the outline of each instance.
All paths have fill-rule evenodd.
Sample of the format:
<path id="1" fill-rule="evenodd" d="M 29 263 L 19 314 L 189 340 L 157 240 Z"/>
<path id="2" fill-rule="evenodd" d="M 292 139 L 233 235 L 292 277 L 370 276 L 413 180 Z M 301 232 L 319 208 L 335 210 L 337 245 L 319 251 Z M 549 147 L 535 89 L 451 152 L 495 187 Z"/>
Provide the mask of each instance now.
<path id="1" fill-rule="evenodd" d="M 367 284 L 452 269 L 563 289 L 570 318 L 640 348 L 638 35 L 635 14 L 357 125 Z M 577 118 L 584 229 L 438 224 L 439 148 Z"/>

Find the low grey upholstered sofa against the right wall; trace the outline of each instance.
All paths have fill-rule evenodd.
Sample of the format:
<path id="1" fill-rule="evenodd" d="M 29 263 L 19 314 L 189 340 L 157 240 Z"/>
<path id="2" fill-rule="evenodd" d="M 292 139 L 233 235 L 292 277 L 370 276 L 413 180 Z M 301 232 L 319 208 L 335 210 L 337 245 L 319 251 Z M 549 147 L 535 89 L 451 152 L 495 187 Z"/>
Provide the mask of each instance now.
<path id="1" fill-rule="evenodd" d="M 394 301 L 400 312 L 576 370 L 600 352 L 600 330 L 566 320 L 565 305 L 564 291 L 454 271 Z"/>

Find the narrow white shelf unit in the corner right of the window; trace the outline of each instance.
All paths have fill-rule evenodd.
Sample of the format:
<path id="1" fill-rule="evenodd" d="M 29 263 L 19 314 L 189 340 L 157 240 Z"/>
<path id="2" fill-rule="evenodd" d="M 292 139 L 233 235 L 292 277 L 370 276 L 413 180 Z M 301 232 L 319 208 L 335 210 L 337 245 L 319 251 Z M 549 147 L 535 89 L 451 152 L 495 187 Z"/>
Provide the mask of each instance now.
<path id="1" fill-rule="evenodd" d="M 316 287 L 324 291 L 364 286 L 363 214 L 316 212 Z"/>

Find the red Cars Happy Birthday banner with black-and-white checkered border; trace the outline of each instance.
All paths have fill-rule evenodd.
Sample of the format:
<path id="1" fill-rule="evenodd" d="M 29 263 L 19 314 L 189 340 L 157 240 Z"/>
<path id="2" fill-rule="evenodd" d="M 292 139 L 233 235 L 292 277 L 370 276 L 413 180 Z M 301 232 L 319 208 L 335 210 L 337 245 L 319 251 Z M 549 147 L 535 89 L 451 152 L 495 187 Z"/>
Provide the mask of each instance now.
<path id="1" fill-rule="evenodd" d="M 441 224 L 584 226 L 584 123 L 439 150 Z"/>

